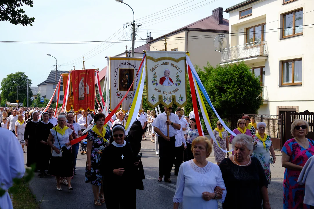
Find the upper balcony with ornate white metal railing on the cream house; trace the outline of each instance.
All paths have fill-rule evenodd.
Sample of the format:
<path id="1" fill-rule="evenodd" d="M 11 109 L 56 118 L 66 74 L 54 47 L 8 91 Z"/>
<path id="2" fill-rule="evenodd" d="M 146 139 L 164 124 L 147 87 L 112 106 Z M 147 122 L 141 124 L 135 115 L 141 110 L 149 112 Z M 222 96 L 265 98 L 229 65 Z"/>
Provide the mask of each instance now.
<path id="1" fill-rule="evenodd" d="M 238 46 L 225 48 L 221 51 L 220 65 L 245 61 L 248 63 L 267 60 L 268 50 L 266 41 L 254 41 Z"/>

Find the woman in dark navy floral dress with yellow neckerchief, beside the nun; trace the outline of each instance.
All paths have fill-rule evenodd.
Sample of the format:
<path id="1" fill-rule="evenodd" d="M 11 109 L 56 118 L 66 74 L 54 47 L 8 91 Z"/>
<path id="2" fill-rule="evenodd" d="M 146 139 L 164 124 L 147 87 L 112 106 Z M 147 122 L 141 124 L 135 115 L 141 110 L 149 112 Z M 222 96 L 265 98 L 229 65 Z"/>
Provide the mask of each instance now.
<path id="1" fill-rule="evenodd" d="M 91 183 L 94 194 L 95 206 L 101 206 L 105 203 L 103 180 L 100 174 L 99 165 L 104 149 L 110 143 L 110 128 L 105 124 L 105 114 L 97 113 L 94 116 L 95 125 L 87 134 L 87 148 L 86 148 L 86 169 L 85 169 L 85 183 Z M 106 158 L 111 160 L 111 158 Z M 100 186 L 100 192 L 99 192 Z"/>

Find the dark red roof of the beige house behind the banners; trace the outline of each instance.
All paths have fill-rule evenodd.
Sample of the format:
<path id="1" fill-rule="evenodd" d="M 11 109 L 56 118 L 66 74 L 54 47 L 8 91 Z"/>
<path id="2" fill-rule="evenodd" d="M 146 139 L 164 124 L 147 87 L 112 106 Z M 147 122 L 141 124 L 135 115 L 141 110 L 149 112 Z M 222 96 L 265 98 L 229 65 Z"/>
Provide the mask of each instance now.
<path id="1" fill-rule="evenodd" d="M 191 23 L 189 25 L 186 25 L 180 29 L 177 29 L 175 31 L 172 31 L 168 34 L 162 35 L 158 37 L 157 39 L 151 40 L 149 43 L 158 41 L 159 39 L 164 39 L 165 36 L 169 36 L 171 34 L 183 31 L 183 30 L 208 30 L 208 31 L 221 31 L 221 32 L 228 32 L 229 31 L 229 20 L 223 18 L 223 23 L 219 24 L 218 20 L 213 17 L 213 15 L 208 16 L 206 18 L 203 18 L 201 20 L 198 20 L 194 23 Z"/>

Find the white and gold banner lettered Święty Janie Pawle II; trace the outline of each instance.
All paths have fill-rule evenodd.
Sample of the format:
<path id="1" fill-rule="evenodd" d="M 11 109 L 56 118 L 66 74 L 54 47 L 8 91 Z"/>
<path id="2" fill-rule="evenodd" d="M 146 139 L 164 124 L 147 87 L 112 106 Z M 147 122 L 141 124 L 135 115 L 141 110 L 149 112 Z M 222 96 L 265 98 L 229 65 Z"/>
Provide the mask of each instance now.
<path id="1" fill-rule="evenodd" d="M 186 52 L 146 52 L 147 104 L 156 107 L 187 103 Z"/>

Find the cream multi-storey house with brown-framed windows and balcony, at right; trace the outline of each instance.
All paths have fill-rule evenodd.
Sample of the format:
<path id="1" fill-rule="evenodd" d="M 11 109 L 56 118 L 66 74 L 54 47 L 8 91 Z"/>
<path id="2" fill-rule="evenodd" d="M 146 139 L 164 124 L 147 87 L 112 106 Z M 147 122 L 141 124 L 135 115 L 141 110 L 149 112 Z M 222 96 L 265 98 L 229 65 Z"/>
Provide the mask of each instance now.
<path id="1" fill-rule="evenodd" d="M 263 86 L 259 114 L 314 111 L 312 0 L 246 0 L 227 8 L 230 47 L 220 65 L 244 61 Z"/>

